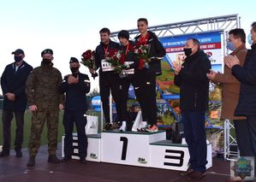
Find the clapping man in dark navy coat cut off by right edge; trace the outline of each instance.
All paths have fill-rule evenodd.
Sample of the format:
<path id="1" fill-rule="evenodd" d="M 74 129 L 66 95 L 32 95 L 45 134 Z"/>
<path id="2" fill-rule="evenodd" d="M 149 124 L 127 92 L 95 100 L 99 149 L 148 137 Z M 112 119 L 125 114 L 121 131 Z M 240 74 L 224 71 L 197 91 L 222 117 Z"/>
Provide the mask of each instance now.
<path id="1" fill-rule="evenodd" d="M 226 56 L 225 64 L 231 69 L 232 74 L 241 82 L 240 96 L 235 108 L 236 116 L 246 116 L 247 124 L 242 128 L 248 134 L 249 142 L 247 154 L 244 156 L 253 156 L 256 163 L 256 22 L 253 22 L 251 28 L 252 50 L 247 50 L 244 66 L 240 66 L 240 61 L 235 56 Z M 254 165 L 255 166 L 255 165 Z M 254 169 L 256 175 L 256 170 Z"/>

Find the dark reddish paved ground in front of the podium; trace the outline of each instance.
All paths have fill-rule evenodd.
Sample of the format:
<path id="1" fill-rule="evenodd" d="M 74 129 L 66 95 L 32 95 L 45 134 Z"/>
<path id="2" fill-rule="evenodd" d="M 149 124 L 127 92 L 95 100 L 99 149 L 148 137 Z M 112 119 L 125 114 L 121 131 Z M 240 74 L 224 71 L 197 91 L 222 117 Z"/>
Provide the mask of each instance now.
<path id="1" fill-rule="evenodd" d="M 60 148 L 59 148 L 60 149 Z M 58 156 L 61 156 L 58 150 Z M 0 181 L 2 182 L 182 182 L 193 181 L 179 176 L 177 171 L 131 167 L 110 163 L 87 162 L 80 164 L 78 161 L 51 164 L 47 162 L 47 146 L 41 147 L 36 158 L 35 167 L 27 167 L 28 153 L 23 150 L 23 157 L 16 158 L 15 151 L 9 157 L 0 158 Z M 229 179 L 229 161 L 222 158 L 213 159 L 213 167 L 207 171 L 205 179 L 199 181 L 227 181 Z"/>

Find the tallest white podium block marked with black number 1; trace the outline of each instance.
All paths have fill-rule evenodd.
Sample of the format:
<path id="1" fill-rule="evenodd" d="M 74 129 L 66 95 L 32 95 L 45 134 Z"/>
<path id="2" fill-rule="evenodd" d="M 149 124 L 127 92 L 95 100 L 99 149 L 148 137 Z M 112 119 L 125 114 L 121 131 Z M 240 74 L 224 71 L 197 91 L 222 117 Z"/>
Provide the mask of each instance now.
<path id="1" fill-rule="evenodd" d="M 164 139 L 164 131 L 102 132 L 101 161 L 150 167 L 150 144 Z"/>

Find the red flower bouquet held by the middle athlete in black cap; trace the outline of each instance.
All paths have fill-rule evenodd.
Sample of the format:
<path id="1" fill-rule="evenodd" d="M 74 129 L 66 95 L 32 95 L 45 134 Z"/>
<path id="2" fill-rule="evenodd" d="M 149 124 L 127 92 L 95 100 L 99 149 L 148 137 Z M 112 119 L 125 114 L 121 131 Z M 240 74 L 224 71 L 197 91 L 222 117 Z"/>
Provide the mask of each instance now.
<path id="1" fill-rule="evenodd" d="M 126 66 L 123 64 L 125 59 L 125 55 L 122 54 L 122 50 L 110 50 L 105 55 L 106 62 L 109 62 L 111 66 L 114 68 L 115 73 L 119 73 L 119 76 L 121 78 L 126 77 L 126 73 L 124 72 L 124 69 L 126 69 Z"/>

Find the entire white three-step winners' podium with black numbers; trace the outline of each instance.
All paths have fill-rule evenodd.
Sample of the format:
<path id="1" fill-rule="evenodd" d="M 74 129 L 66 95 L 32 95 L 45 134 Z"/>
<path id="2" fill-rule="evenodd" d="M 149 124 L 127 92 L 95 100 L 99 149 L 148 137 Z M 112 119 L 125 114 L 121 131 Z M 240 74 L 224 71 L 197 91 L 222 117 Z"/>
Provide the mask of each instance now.
<path id="1" fill-rule="evenodd" d="M 62 156 L 64 156 L 64 137 Z M 87 135 L 87 161 L 157 167 L 186 171 L 189 152 L 187 144 L 166 140 L 166 132 L 101 132 Z M 73 133 L 73 159 L 79 159 L 77 134 Z M 207 144 L 206 168 L 212 166 L 211 144 Z"/>

